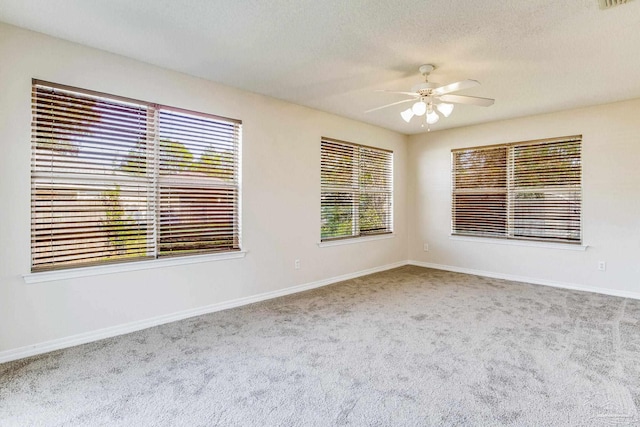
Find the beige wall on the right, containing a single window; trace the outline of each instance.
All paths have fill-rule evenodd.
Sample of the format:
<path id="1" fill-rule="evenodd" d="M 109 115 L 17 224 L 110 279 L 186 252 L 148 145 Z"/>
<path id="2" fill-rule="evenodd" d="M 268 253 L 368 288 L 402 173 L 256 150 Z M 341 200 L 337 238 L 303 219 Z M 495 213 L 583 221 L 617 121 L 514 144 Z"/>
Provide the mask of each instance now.
<path id="1" fill-rule="evenodd" d="M 633 100 L 412 136 L 410 259 L 640 297 L 639 114 L 640 100 Z M 583 135 L 586 251 L 450 238 L 451 149 L 577 134 Z M 598 261 L 606 271 L 598 271 Z"/>

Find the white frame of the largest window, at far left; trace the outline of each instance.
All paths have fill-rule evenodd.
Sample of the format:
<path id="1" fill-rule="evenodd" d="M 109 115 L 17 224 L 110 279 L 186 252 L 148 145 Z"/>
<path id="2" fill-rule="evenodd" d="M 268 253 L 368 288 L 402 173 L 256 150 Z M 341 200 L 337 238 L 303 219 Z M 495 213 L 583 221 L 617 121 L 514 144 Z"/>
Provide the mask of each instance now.
<path id="1" fill-rule="evenodd" d="M 41 170 L 42 165 L 39 163 L 40 166 L 37 166 L 37 160 L 36 160 L 36 156 L 38 155 L 38 153 L 42 155 L 42 148 L 39 148 L 38 144 L 43 143 L 41 137 L 37 136 L 37 133 L 39 131 L 42 132 L 43 130 L 42 126 L 39 125 L 39 120 L 37 120 L 39 118 L 38 116 L 39 113 L 36 112 L 36 108 L 38 109 L 42 108 L 42 105 L 39 104 L 39 102 L 41 101 L 39 100 L 39 98 L 37 98 L 37 95 L 36 95 L 36 93 L 38 94 L 40 93 L 38 92 L 39 88 L 40 89 L 44 88 L 45 91 L 50 91 L 50 93 L 55 93 L 55 91 L 61 91 L 63 93 L 66 93 L 67 95 L 64 95 L 64 96 L 68 96 L 68 99 L 70 102 L 69 105 L 71 105 L 71 107 L 69 108 L 79 108 L 77 107 L 77 105 L 81 102 L 82 97 L 85 97 L 85 99 L 95 99 L 96 102 L 113 103 L 113 105 L 127 104 L 130 106 L 134 106 L 135 108 L 139 107 L 141 111 L 147 111 L 148 118 L 147 118 L 146 124 L 138 125 L 139 129 L 143 129 L 140 131 L 142 132 L 140 137 L 141 138 L 140 141 L 143 146 L 142 150 L 140 151 L 142 154 L 140 157 L 135 159 L 136 162 L 139 162 L 141 165 L 143 165 L 142 166 L 143 169 L 141 169 L 140 174 L 139 175 L 137 173 L 123 174 L 122 169 L 118 173 L 116 166 L 114 165 L 112 167 L 105 166 L 103 173 L 96 172 L 97 170 L 96 169 L 92 172 L 87 173 L 86 176 L 82 176 L 80 174 L 74 175 L 73 173 L 65 173 L 65 171 L 62 170 L 62 173 L 58 173 L 57 176 L 55 173 L 51 173 L 50 176 L 47 176 L 46 178 L 42 178 L 42 176 L 46 176 L 46 173 L 43 174 L 42 172 L 37 172 L 38 170 Z M 151 219 L 151 224 L 148 226 L 148 228 L 147 227 L 142 228 L 143 230 L 145 230 L 144 233 L 146 235 L 146 238 L 143 238 L 143 240 L 146 239 L 146 244 L 144 246 L 141 246 L 143 247 L 143 249 L 140 249 L 140 251 L 141 252 L 143 251 L 145 255 L 135 256 L 135 258 L 132 257 L 130 259 L 127 259 L 126 257 L 124 259 L 123 257 L 120 257 L 120 258 L 116 257 L 116 259 L 99 259 L 100 256 L 90 254 L 89 261 L 86 261 L 86 262 L 73 263 L 73 262 L 60 261 L 59 265 L 55 265 L 55 263 L 52 264 L 52 263 L 43 263 L 43 262 L 40 262 L 39 264 L 37 264 L 36 258 L 35 258 L 36 255 L 34 252 L 34 247 L 35 247 L 34 245 L 36 244 L 35 243 L 36 235 L 34 234 L 35 233 L 34 227 L 36 227 L 37 219 L 35 218 L 35 215 L 36 215 L 36 212 L 38 212 L 38 210 L 32 207 L 31 245 L 30 245 L 31 274 L 30 276 L 34 276 L 34 275 L 39 276 L 39 275 L 47 275 L 47 274 L 51 275 L 51 273 L 59 272 L 61 273 L 59 274 L 61 276 L 68 275 L 70 277 L 75 277 L 73 273 L 74 270 L 95 269 L 96 271 L 107 271 L 107 270 L 112 271 L 113 270 L 112 268 L 107 268 L 107 267 L 110 267 L 112 265 L 113 267 L 122 266 L 125 264 L 126 265 L 140 264 L 140 268 L 149 268 L 147 266 L 150 263 L 158 264 L 158 262 L 161 260 L 164 261 L 162 264 L 170 264 L 170 265 L 173 264 L 173 263 L 167 263 L 168 258 L 182 258 L 182 259 L 194 258 L 196 259 L 196 262 L 200 262 L 203 259 L 212 259 L 212 255 L 214 256 L 213 258 L 215 258 L 215 255 L 219 255 L 217 258 L 223 259 L 223 258 L 235 258 L 235 256 L 233 256 L 234 253 L 243 253 L 243 251 L 241 250 L 241 247 L 242 247 L 241 246 L 242 244 L 242 235 L 241 235 L 241 230 L 242 230 L 242 227 L 241 227 L 242 121 L 241 120 L 231 119 L 231 118 L 222 117 L 222 116 L 213 115 L 213 114 L 207 114 L 199 111 L 187 110 L 183 108 L 171 107 L 171 106 L 157 104 L 157 103 L 141 101 L 133 98 L 112 95 L 112 94 L 98 92 L 94 90 L 88 90 L 88 89 L 83 89 L 83 88 L 58 84 L 58 83 L 52 83 L 52 82 L 39 80 L 39 79 L 32 79 L 32 97 L 33 98 L 31 102 L 31 106 L 32 106 L 31 108 L 33 110 L 33 121 L 31 126 L 32 148 L 31 148 L 31 168 L 30 168 L 31 169 L 32 204 L 34 203 L 34 200 L 36 200 L 35 199 L 36 195 L 34 192 L 36 191 L 38 183 L 42 184 L 42 179 L 48 179 L 49 181 L 47 182 L 47 184 L 49 185 L 61 185 L 60 183 L 63 183 L 63 184 L 69 183 L 69 188 L 71 188 L 71 190 L 75 188 L 76 189 L 75 191 L 81 191 L 80 182 L 82 182 L 83 179 L 87 180 L 88 182 L 91 181 L 94 183 L 98 183 L 95 185 L 102 184 L 105 186 L 105 188 L 111 188 L 111 185 L 114 185 L 117 188 L 119 184 L 123 182 L 137 183 L 135 187 L 138 188 L 138 192 L 139 193 L 146 192 L 146 196 L 140 196 L 141 200 L 145 200 L 144 206 L 146 206 L 144 208 L 144 211 L 146 212 L 146 214 L 143 221 L 148 221 L 149 219 Z M 224 163 L 222 163 L 223 165 L 222 167 L 228 167 L 229 170 L 231 171 L 230 174 L 232 175 L 232 177 L 230 179 L 226 179 L 225 177 L 226 179 L 225 180 L 222 178 L 217 178 L 215 175 L 211 175 L 211 176 L 204 175 L 203 173 L 200 172 L 201 169 L 199 169 L 203 167 L 202 163 L 198 165 L 198 168 L 194 167 L 192 169 L 189 169 L 190 173 L 186 174 L 186 176 L 178 176 L 178 174 L 176 174 L 175 176 L 167 175 L 166 171 L 169 169 L 166 167 L 163 169 L 162 166 L 160 166 L 160 163 L 162 160 L 159 154 L 160 150 L 162 150 L 161 146 L 162 146 L 162 139 L 163 139 L 162 129 L 161 129 L 163 126 L 163 123 L 160 121 L 159 116 L 167 112 L 168 114 L 175 114 L 177 117 L 179 117 L 180 119 L 184 119 L 185 121 L 192 120 L 192 119 L 195 121 L 198 118 L 203 118 L 204 122 L 206 122 L 207 125 L 215 124 L 215 126 L 222 126 L 228 129 L 232 129 L 232 131 L 228 132 L 228 135 L 232 135 L 229 139 L 229 141 L 231 141 L 229 142 L 229 147 L 231 147 L 230 153 L 232 154 L 229 157 L 230 160 L 225 159 Z M 59 113 L 51 113 L 50 117 L 56 118 L 58 117 L 58 114 Z M 105 122 L 103 122 L 103 120 L 106 120 L 106 119 L 103 116 L 97 116 L 97 117 L 99 117 L 99 119 L 98 121 L 96 121 L 96 123 L 99 124 L 100 126 L 105 126 L 104 124 Z M 82 120 L 82 118 L 79 120 Z M 164 121 L 164 126 L 167 126 L 169 124 L 173 124 L 169 119 Z M 207 125 L 204 125 L 205 126 L 204 129 L 209 130 L 209 128 L 206 127 Z M 116 122 L 116 126 L 123 126 L 123 124 L 121 122 Z M 185 129 L 189 129 L 188 126 L 189 126 L 188 124 L 178 125 L 176 129 L 186 132 Z M 191 131 L 193 131 L 193 129 L 191 129 Z M 93 137 L 93 134 L 89 134 L 89 135 Z M 226 136 L 227 134 L 224 134 L 224 135 Z M 71 136 L 71 138 L 74 138 L 74 136 Z M 210 147 L 220 148 L 220 142 L 214 139 L 213 137 L 200 137 L 200 138 L 205 141 L 205 146 L 207 146 L 206 144 L 210 143 L 211 144 Z M 105 150 L 115 150 L 113 146 L 116 143 L 115 142 L 110 143 L 107 140 L 108 138 L 106 138 L 104 141 L 98 138 L 97 143 L 103 144 L 103 146 L 105 147 Z M 168 139 L 168 141 L 172 141 L 172 139 Z M 189 144 L 188 139 L 186 140 L 179 139 L 176 141 L 181 145 L 183 145 L 185 148 Z M 186 148 L 186 149 L 189 150 L 189 148 Z M 189 152 L 191 153 L 191 151 Z M 140 160 L 140 158 L 143 158 L 144 160 Z M 58 161 L 59 160 L 56 160 L 54 157 L 52 157 L 52 160 L 51 160 L 52 171 L 54 168 L 53 165 L 55 164 L 54 162 L 58 162 Z M 77 164 L 90 165 L 89 163 L 82 163 L 82 162 L 78 162 Z M 59 166 L 56 166 L 56 167 L 59 167 Z M 122 164 L 120 164 L 118 167 L 122 167 Z M 219 172 L 219 170 L 220 169 L 218 169 L 217 173 L 222 173 L 222 172 Z M 162 171 L 165 171 L 165 176 L 162 175 Z M 203 176 L 199 177 L 198 176 L 199 173 Z M 75 182 L 75 187 L 73 186 L 74 182 Z M 163 186 L 166 187 L 165 185 L 166 183 L 170 184 L 169 188 L 178 188 L 180 186 L 182 186 L 183 188 L 198 188 L 201 190 L 206 188 L 214 189 L 214 190 L 222 187 L 231 188 L 232 193 L 234 194 L 234 197 L 231 199 L 231 205 L 230 205 L 231 206 L 231 222 L 229 224 L 231 226 L 230 236 L 232 236 L 233 238 L 233 244 L 228 248 L 218 249 L 217 247 L 214 247 L 215 244 L 212 242 L 209 245 L 210 247 L 207 249 L 191 251 L 189 253 L 179 253 L 179 254 L 161 253 L 161 237 L 162 237 L 161 230 L 163 230 L 166 227 L 163 228 L 161 225 L 160 214 L 162 212 L 163 207 L 160 202 L 160 196 L 161 196 L 161 190 Z M 146 189 L 146 191 L 144 191 L 144 189 Z M 214 190 L 211 190 L 211 191 L 214 191 Z M 203 191 L 206 191 L 206 190 L 203 190 Z M 190 194 L 193 194 L 193 193 L 190 193 Z M 118 195 L 117 203 L 120 203 L 119 197 L 120 195 Z M 211 208 L 218 209 L 217 205 L 211 204 L 211 203 L 214 203 L 211 201 L 213 200 L 213 198 L 211 198 L 212 196 L 209 196 L 209 197 L 210 199 L 206 199 L 202 203 L 209 203 L 209 205 L 205 205 L 205 206 L 210 206 Z M 179 199 L 179 197 L 177 198 Z M 219 203 L 219 199 L 218 199 L 218 203 Z M 105 209 L 108 209 L 108 208 L 105 208 Z M 80 212 L 80 211 L 76 211 L 76 212 Z M 215 212 L 218 212 L 218 211 L 215 211 Z M 106 215 L 106 211 L 105 211 L 105 215 Z M 211 221 L 210 219 L 211 215 L 214 215 L 214 214 L 212 213 L 207 214 L 202 212 L 193 214 L 191 212 L 187 212 L 186 215 L 190 215 L 190 216 L 185 217 L 186 218 L 185 220 L 189 221 L 189 220 L 195 219 L 196 223 L 198 223 L 197 221 L 200 220 L 201 222 L 199 224 L 204 225 L 205 222 Z M 54 219 L 55 217 L 52 217 L 52 219 L 50 220 L 51 224 L 53 224 Z M 199 234 L 195 234 L 195 236 L 198 236 L 198 235 Z M 198 239 L 197 237 L 194 237 L 192 238 L 192 240 L 196 242 Z M 56 244 L 52 243 L 50 246 L 50 251 L 52 251 L 51 252 L 52 254 L 56 250 L 56 247 L 57 247 Z M 82 244 L 83 244 L 82 242 L 78 243 L 78 245 L 82 245 Z M 139 243 L 139 244 L 142 245 L 142 243 Z M 55 258 L 56 256 L 54 255 L 53 257 Z M 178 261 L 177 263 L 188 264 L 191 262 L 190 260 L 185 259 L 184 262 Z M 129 269 L 135 270 L 139 268 L 135 268 L 135 267 L 124 268 L 123 270 L 129 270 Z M 102 273 L 98 272 L 96 274 L 102 274 Z M 26 277 L 25 277 L 25 280 L 27 280 Z M 45 280 L 48 280 L 48 279 L 45 279 Z"/>

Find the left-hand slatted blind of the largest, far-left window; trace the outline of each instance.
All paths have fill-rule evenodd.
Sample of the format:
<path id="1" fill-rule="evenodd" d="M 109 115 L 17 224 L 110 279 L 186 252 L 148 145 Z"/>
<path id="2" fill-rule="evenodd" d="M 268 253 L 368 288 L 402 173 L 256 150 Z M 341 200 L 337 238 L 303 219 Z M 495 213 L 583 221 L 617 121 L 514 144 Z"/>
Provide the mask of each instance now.
<path id="1" fill-rule="evenodd" d="M 32 270 L 153 256 L 148 108 L 43 85 L 32 93 Z"/>

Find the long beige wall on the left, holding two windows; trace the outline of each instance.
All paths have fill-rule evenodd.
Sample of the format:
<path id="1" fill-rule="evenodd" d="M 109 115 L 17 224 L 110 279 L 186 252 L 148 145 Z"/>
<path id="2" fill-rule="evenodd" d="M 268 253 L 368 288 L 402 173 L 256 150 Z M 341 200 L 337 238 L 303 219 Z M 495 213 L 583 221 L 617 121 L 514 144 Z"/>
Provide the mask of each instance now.
<path id="1" fill-rule="evenodd" d="M 32 78 L 241 119 L 246 257 L 26 284 Z M 321 136 L 394 151 L 394 238 L 317 246 Z M 0 146 L 0 352 L 407 259 L 406 136 L 4 24 Z"/>

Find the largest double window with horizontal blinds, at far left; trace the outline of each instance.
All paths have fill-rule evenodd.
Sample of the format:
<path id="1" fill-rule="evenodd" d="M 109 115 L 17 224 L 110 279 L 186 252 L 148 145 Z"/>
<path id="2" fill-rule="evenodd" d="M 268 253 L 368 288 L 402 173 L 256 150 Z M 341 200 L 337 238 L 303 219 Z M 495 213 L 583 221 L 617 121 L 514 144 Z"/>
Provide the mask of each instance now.
<path id="1" fill-rule="evenodd" d="M 34 80 L 33 272 L 240 249 L 241 122 Z"/>

